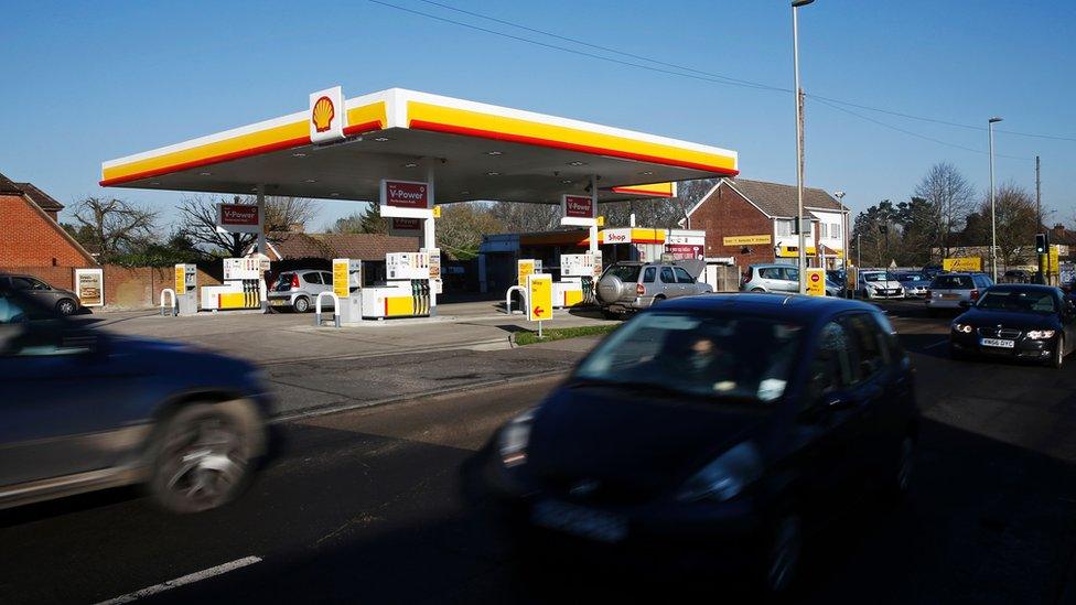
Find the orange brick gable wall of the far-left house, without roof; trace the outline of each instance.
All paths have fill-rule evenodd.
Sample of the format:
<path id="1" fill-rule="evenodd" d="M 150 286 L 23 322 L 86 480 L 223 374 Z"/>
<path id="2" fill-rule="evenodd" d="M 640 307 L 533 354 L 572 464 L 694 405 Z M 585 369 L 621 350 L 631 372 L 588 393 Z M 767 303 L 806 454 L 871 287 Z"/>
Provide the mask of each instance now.
<path id="1" fill-rule="evenodd" d="M 13 267 L 84 267 L 78 248 L 21 195 L 0 195 L 0 270 Z"/>

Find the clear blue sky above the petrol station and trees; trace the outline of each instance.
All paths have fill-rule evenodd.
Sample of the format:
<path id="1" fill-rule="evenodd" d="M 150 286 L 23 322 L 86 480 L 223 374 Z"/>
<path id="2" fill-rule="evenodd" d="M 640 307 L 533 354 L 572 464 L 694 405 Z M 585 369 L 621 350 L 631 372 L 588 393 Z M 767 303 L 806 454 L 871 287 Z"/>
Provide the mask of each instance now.
<path id="1" fill-rule="evenodd" d="M 739 152 L 745 179 L 795 183 L 787 1 L 437 1 L 636 57 L 378 0 L 652 68 L 369 0 L 0 0 L 0 173 L 68 205 L 122 197 L 168 223 L 184 194 L 101 190 L 100 163 L 305 110 L 311 91 L 341 85 L 347 97 L 411 88 L 712 144 Z M 997 182 L 1034 192 L 1040 155 L 1047 220 L 1076 218 L 1076 3 L 817 0 L 799 14 L 809 186 L 844 191 L 862 210 L 907 199 L 944 161 L 988 192 L 986 125 L 1000 116 Z M 701 77 L 666 73 L 682 68 Z M 973 128 L 841 111 L 819 96 Z M 359 206 L 324 201 L 311 227 Z"/>

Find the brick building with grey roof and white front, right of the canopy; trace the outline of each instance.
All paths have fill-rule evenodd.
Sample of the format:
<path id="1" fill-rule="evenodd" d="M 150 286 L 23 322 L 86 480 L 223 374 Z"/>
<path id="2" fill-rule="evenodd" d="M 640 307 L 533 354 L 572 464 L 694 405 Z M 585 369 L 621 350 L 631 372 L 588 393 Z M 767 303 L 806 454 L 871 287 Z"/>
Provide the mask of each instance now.
<path id="1" fill-rule="evenodd" d="M 799 237 L 794 185 L 746 179 L 722 179 L 688 210 L 691 229 L 706 230 L 707 258 L 731 258 L 745 267 L 760 262 L 795 263 Z M 807 238 L 811 267 L 842 263 L 849 210 L 822 190 L 804 188 L 804 214 L 811 220 Z"/>

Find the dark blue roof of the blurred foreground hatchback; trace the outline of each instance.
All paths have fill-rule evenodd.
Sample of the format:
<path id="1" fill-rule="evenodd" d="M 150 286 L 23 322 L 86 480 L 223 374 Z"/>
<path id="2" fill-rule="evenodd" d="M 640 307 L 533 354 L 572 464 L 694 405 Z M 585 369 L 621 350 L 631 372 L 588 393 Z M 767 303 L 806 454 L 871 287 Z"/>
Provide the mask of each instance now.
<path id="1" fill-rule="evenodd" d="M 765 292 L 687 296 L 665 301 L 654 309 L 660 311 L 699 311 L 702 313 L 731 312 L 756 317 L 790 320 L 804 324 L 826 321 L 832 315 L 846 311 L 880 313 L 876 306 L 860 301 Z"/>

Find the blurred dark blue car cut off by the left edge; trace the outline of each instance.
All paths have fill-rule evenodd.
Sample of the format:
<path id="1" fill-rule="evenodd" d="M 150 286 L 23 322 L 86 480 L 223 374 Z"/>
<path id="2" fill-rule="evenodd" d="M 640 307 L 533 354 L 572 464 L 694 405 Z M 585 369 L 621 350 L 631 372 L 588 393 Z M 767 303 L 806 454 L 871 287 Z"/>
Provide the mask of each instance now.
<path id="1" fill-rule="evenodd" d="M 0 383 L 0 509 L 144 484 L 168 510 L 205 510 L 266 451 L 255 366 L 85 327 L 3 284 Z"/>

